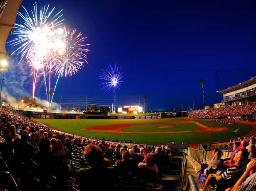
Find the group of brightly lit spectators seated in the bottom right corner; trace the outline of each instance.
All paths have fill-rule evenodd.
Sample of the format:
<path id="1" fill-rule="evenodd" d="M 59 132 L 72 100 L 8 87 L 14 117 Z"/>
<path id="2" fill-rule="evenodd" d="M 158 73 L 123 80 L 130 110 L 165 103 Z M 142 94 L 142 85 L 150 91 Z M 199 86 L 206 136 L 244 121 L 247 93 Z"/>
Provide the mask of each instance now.
<path id="1" fill-rule="evenodd" d="M 226 191 L 255 189 L 255 137 L 256 135 L 251 135 L 237 140 L 230 140 L 229 147 L 233 147 L 233 152 L 224 160 L 220 159 L 223 154 L 222 151 L 214 149 L 214 157 L 202 164 L 201 173 L 206 175 L 206 181 L 200 191 L 212 189 L 213 187 L 217 190 Z M 204 168 L 206 169 L 204 170 Z"/>

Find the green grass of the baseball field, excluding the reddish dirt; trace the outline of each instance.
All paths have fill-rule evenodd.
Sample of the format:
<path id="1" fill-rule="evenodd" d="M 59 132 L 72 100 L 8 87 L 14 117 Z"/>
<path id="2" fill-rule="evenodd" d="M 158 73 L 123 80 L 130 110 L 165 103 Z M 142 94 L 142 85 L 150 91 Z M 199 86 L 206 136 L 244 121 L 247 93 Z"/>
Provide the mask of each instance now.
<path id="1" fill-rule="evenodd" d="M 143 144 L 153 144 L 158 145 L 160 142 L 162 144 L 167 144 L 175 142 L 176 144 L 198 144 L 198 143 L 211 143 L 221 140 L 228 140 L 237 137 L 241 137 L 252 131 L 252 127 L 243 124 L 233 124 L 228 125 L 225 123 L 218 123 L 214 121 L 201 121 L 197 120 L 205 126 L 208 127 L 226 127 L 228 130 L 219 132 L 219 133 L 195 133 L 195 132 L 186 132 L 186 133 L 166 133 L 175 131 L 193 131 L 201 128 L 200 126 L 196 127 L 196 124 L 193 123 L 178 123 L 178 124 L 153 124 L 153 125 L 139 125 L 139 123 L 159 123 L 159 122 L 168 122 L 168 121 L 187 121 L 183 118 L 170 118 L 170 119 L 100 119 L 100 120 L 76 120 L 76 119 L 34 119 L 40 123 L 45 123 L 53 128 L 59 129 L 60 131 L 65 131 L 75 135 L 80 135 L 84 137 L 97 137 L 105 139 L 118 139 L 118 140 L 127 140 L 131 139 L 132 142 Z M 163 133 L 111 133 L 111 132 L 99 132 L 99 131 L 87 131 L 81 130 L 81 128 L 90 127 L 90 126 L 100 126 L 100 125 L 111 125 L 111 124 L 127 124 L 127 123 L 137 123 L 136 125 L 128 128 L 122 129 L 124 132 L 163 132 Z M 173 126 L 173 128 L 157 128 L 157 126 Z M 236 128 L 240 127 L 237 133 L 231 133 Z M 167 131 L 168 130 L 168 131 Z"/>

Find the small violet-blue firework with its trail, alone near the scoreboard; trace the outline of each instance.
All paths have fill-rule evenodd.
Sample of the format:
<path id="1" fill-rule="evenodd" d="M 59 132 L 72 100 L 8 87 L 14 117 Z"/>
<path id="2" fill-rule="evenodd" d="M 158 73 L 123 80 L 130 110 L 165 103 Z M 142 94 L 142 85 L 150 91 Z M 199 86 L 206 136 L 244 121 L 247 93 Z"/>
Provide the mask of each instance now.
<path id="1" fill-rule="evenodd" d="M 109 94 L 110 91 L 113 91 L 114 94 L 114 111 L 116 110 L 116 91 L 120 89 L 120 85 L 122 81 L 122 73 L 121 69 L 118 71 L 118 67 L 115 65 L 115 68 L 112 68 L 111 64 L 110 67 L 106 70 L 102 69 L 102 75 L 99 76 L 99 79 L 105 80 L 105 82 L 99 83 L 99 85 L 103 85 L 101 88 L 103 93 Z"/>

